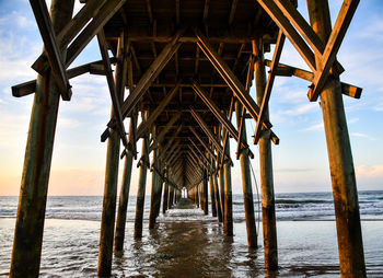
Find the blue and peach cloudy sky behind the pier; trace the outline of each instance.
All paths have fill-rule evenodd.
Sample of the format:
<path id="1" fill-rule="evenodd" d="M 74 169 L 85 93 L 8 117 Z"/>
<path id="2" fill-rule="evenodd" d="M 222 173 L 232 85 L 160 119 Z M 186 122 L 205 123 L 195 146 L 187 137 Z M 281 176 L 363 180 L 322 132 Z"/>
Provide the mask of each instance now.
<path id="1" fill-rule="evenodd" d="M 341 1 L 329 2 L 334 24 Z M 76 11 L 80 8 L 77 1 Z M 299 1 L 299 11 L 307 19 L 305 1 Z M 340 80 L 363 89 L 360 100 L 344 96 L 359 190 L 383 189 L 382 14 L 381 0 L 360 1 L 337 56 L 346 69 Z M 28 1 L 0 0 L 0 195 L 19 195 L 33 104 L 33 95 L 13 97 L 11 86 L 36 78 L 31 65 L 42 48 Z M 270 59 L 271 54 L 266 58 Z M 72 67 L 98 59 L 100 50 L 92 40 Z M 281 62 L 307 69 L 289 42 Z M 106 143 L 100 141 L 100 135 L 111 112 L 106 79 L 84 74 L 71 79 L 70 83 L 72 100 L 61 102 L 59 108 L 48 194 L 102 195 Z M 306 81 L 283 77 L 277 77 L 274 85 L 270 121 L 280 138 L 280 144 L 272 146 L 276 193 L 332 190 L 322 112 L 317 102 L 307 101 L 307 85 Z M 251 94 L 255 97 L 253 89 Z M 255 124 L 247 120 L 246 128 L 251 136 Z M 252 142 L 251 138 L 248 141 Z M 255 182 L 259 185 L 258 149 L 253 144 L 251 149 L 255 153 L 251 161 L 255 170 Z M 236 143 L 231 141 L 232 184 L 233 193 L 237 194 L 242 193 L 242 181 L 235 150 Z M 132 167 L 131 195 L 137 192 L 136 165 L 137 162 Z M 121 161 L 119 176 L 123 166 Z M 150 185 L 151 173 L 148 171 L 147 194 L 150 194 Z"/>

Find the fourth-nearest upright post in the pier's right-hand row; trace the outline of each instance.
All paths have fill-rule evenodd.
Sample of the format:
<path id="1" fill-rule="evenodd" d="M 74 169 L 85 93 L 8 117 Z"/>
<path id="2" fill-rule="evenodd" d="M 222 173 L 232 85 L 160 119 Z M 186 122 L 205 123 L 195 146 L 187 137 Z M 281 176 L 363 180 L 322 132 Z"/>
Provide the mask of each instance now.
<path id="1" fill-rule="evenodd" d="M 227 143 L 224 153 L 230 157 L 230 143 Z M 231 162 L 225 159 L 223 163 L 224 175 L 224 218 L 223 232 L 227 236 L 233 235 L 233 196 L 231 189 Z"/>

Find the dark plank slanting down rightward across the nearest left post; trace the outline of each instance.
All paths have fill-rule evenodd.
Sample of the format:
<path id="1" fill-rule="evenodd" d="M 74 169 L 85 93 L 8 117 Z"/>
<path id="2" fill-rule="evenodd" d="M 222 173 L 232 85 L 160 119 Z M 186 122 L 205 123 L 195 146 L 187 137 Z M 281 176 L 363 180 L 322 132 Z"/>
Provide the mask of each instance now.
<path id="1" fill-rule="evenodd" d="M 61 50 L 57 44 L 56 34 L 50 22 L 47 5 L 44 0 L 30 0 L 30 3 L 42 35 L 51 72 L 60 91 L 61 99 L 63 101 L 70 101 L 72 91 L 70 89 L 71 86 L 63 66 Z"/>

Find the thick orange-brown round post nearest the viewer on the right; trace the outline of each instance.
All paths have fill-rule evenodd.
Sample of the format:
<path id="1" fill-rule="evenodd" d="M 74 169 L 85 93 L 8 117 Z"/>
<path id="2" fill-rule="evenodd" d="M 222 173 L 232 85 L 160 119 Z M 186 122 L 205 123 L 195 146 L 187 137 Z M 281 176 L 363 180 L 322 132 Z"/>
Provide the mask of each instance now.
<path id="1" fill-rule="evenodd" d="M 307 1 L 307 8 L 313 30 L 327 43 L 332 32 L 327 0 Z M 333 183 L 340 274 L 341 277 L 365 277 L 357 182 L 338 77 L 327 78 L 321 106 Z"/>

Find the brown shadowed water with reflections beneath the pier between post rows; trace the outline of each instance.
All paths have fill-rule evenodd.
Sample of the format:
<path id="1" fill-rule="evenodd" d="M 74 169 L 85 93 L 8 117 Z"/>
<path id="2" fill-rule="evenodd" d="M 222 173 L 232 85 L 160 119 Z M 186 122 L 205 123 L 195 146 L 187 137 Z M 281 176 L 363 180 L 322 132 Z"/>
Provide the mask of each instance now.
<path id="1" fill-rule="evenodd" d="M 124 254 L 116 254 L 115 270 L 129 277 L 258 277 L 263 268 L 255 264 L 257 251 L 234 244 L 213 219 L 197 209 L 178 208 Z"/>

